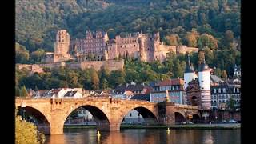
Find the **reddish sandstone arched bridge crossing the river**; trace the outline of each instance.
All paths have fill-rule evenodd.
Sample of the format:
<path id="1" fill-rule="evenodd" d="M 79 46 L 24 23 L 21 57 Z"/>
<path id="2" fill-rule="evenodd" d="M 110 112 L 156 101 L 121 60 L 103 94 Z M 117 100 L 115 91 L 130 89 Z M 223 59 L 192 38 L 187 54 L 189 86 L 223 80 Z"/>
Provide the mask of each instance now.
<path id="1" fill-rule="evenodd" d="M 201 116 L 197 106 L 167 103 L 162 106 L 164 108 L 162 110 L 158 103 L 114 98 L 16 98 L 15 106 L 37 118 L 40 122 L 37 125 L 38 130 L 42 130 L 45 134 L 62 134 L 66 118 L 79 107 L 90 111 L 98 130 L 110 131 L 120 130 L 122 119 L 129 114 L 130 110 L 137 110 L 149 124 L 174 124 L 175 118 L 182 116 L 186 119 L 186 114 Z"/>

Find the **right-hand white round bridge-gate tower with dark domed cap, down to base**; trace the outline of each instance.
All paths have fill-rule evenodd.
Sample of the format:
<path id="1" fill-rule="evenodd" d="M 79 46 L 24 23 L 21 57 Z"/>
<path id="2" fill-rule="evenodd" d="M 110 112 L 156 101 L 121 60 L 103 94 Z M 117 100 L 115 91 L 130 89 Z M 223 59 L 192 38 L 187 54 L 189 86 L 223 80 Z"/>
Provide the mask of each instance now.
<path id="1" fill-rule="evenodd" d="M 205 58 L 202 64 L 199 65 L 198 80 L 201 90 L 202 109 L 210 110 L 210 69 L 206 64 Z"/>

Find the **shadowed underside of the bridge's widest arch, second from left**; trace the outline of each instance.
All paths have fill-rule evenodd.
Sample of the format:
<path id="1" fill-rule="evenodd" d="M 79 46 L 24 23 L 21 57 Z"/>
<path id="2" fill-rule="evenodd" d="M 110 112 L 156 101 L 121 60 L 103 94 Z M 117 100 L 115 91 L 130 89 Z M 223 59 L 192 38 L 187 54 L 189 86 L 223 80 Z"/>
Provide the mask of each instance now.
<path id="1" fill-rule="evenodd" d="M 62 126 L 64 126 L 66 119 L 70 116 L 74 110 L 78 110 L 78 108 L 84 108 L 85 110 L 88 110 L 90 114 L 93 115 L 95 122 L 97 123 L 97 129 L 98 130 L 109 130 L 110 126 L 110 118 L 106 115 L 106 112 L 104 110 L 101 110 L 99 106 L 93 106 L 93 105 L 81 105 L 76 106 L 74 109 L 70 109 L 66 115 L 64 116 L 64 122 L 62 122 Z"/>

